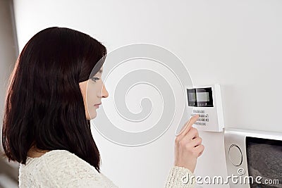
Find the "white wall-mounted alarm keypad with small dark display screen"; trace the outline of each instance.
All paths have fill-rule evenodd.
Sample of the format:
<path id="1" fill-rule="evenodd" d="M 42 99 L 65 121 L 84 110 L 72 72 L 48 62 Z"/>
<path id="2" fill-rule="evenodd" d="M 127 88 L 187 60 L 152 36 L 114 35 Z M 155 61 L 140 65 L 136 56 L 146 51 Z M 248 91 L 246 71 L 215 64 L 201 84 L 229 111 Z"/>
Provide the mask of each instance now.
<path id="1" fill-rule="evenodd" d="M 222 132 L 223 110 L 219 84 L 187 89 L 188 108 L 193 115 L 199 115 L 194 123 L 198 130 Z"/>

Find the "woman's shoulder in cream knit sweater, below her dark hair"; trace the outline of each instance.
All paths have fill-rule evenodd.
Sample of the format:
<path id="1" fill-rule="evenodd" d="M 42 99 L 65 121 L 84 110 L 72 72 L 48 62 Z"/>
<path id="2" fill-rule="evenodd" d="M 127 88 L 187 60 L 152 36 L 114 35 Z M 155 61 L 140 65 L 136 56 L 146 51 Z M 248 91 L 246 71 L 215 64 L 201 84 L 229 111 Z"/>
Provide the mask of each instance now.
<path id="1" fill-rule="evenodd" d="M 52 150 L 20 164 L 20 182 L 37 182 L 53 187 L 70 184 L 100 184 L 104 178 L 89 163 L 66 150 Z"/>

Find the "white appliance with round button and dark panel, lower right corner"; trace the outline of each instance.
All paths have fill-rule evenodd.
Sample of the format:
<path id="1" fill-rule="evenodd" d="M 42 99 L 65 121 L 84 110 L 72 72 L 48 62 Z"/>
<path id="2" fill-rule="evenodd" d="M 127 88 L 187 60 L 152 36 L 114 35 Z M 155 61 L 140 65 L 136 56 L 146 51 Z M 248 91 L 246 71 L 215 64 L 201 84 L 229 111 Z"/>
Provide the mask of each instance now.
<path id="1" fill-rule="evenodd" d="M 282 132 L 226 129 L 224 146 L 231 188 L 282 187 Z"/>

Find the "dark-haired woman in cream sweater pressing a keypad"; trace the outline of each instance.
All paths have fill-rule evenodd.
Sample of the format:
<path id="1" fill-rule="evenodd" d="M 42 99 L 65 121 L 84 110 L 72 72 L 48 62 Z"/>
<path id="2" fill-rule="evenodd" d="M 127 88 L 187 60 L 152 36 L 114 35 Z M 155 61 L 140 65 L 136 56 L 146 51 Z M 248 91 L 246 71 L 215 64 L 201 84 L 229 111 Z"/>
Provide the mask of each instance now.
<path id="1" fill-rule="evenodd" d="M 10 77 L 4 110 L 3 146 L 18 161 L 20 187 L 116 187 L 99 169 L 90 130 L 97 106 L 108 92 L 101 80 L 106 48 L 89 35 L 50 27 L 21 51 Z M 93 70 L 93 71 L 92 71 Z M 91 99 L 86 100 L 91 91 Z M 204 147 L 191 125 L 176 137 L 175 163 L 166 187 L 192 187 Z"/>

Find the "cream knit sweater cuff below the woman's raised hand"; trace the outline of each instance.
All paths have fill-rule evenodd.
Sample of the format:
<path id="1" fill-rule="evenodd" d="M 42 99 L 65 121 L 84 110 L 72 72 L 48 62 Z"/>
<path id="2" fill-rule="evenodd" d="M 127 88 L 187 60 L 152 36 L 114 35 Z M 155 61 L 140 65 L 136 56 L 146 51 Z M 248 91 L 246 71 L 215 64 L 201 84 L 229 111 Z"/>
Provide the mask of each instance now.
<path id="1" fill-rule="evenodd" d="M 195 186 L 195 176 L 188 169 L 180 166 L 171 168 L 166 180 L 166 188 L 192 188 Z"/>

